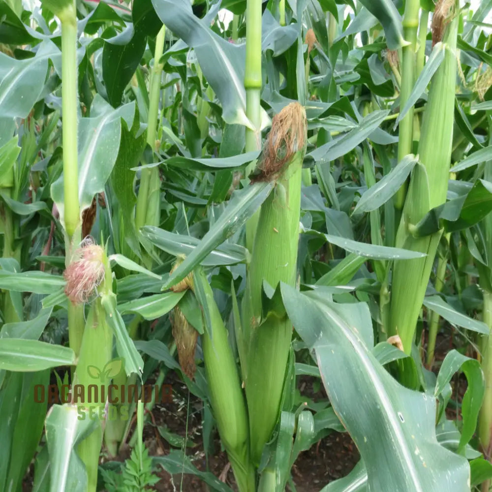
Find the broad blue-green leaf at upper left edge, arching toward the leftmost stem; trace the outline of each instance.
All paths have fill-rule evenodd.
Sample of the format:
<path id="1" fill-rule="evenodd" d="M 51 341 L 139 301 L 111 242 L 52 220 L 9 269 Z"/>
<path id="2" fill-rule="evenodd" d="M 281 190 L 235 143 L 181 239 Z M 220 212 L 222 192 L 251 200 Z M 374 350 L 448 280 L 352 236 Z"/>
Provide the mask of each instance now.
<path id="1" fill-rule="evenodd" d="M 0 115 L 2 118 L 27 118 L 41 95 L 48 62 L 60 58 L 57 46 L 49 40 L 39 44 L 34 57 L 15 60 L 0 53 Z"/>

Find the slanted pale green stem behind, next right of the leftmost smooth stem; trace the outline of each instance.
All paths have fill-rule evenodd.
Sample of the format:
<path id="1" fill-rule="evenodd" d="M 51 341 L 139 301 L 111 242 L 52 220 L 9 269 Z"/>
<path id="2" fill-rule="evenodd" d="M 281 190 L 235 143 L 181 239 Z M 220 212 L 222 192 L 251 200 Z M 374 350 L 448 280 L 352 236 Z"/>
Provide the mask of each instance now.
<path id="1" fill-rule="evenodd" d="M 162 25 L 155 39 L 154 51 L 154 66 L 152 68 L 150 86 L 149 86 L 149 120 L 147 122 L 147 143 L 155 151 L 155 135 L 157 127 L 157 119 L 159 115 L 159 100 L 160 100 L 160 82 L 162 76 L 163 65 L 160 63 L 162 53 L 164 51 L 164 39 L 166 28 Z M 159 180 L 159 169 L 153 167 L 151 169 L 142 169 L 140 176 L 140 187 L 138 190 L 137 207 L 135 211 L 135 227 L 139 230 L 144 225 L 158 225 L 155 223 L 156 207 L 159 203 L 155 198 L 151 199 L 152 184 Z M 150 203 L 152 201 L 152 203 Z M 149 222 L 152 219 L 153 223 Z"/>

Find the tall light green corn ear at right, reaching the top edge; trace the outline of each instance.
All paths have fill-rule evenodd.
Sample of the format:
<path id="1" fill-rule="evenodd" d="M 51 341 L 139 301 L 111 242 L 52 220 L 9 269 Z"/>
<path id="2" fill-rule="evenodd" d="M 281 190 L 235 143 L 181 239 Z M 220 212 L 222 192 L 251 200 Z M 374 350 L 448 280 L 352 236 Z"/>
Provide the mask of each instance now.
<path id="1" fill-rule="evenodd" d="M 419 142 L 422 164 L 418 164 L 412 171 L 396 237 L 397 247 L 427 254 L 424 258 L 395 262 L 393 266 L 389 335 L 400 336 L 407 354 L 411 351 L 419 312 L 442 235 L 442 230 L 426 237 L 416 237 L 412 233 L 424 215 L 446 200 L 453 141 L 458 20 L 458 12 L 452 8 L 446 20 L 443 39 L 446 45 L 444 61 L 432 77 L 424 113 Z"/>

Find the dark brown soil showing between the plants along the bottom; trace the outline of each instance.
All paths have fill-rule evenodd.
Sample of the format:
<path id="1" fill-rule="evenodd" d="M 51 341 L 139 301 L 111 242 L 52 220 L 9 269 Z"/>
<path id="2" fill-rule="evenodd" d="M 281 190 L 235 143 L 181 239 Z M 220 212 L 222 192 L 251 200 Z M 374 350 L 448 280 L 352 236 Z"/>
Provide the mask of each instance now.
<path id="1" fill-rule="evenodd" d="M 449 333 L 449 332 L 448 332 Z M 437 373 L 445 354 L 454 348 L 454 341 L 449 336 L 438 336 L 436 342 L 436 357 L 432 370 Z M 471 355 L 471 354 L 470 354 Z M 319 380 L 303 376 L 299 378 L 298 388 L 301 395 L 316 402 L 326 400 L 323 386 L 317 384 Z M 225 482 L 233 491 L 237 491 L 234 476 L 230 468 L 227 455 L 221 451 L 218 435 L 213 439 L 213 452 L 209 454 L 208 465 L 203 448 L 201 401 L 188 394 L 185 384 L 170 371 L 165 383 L 173 387 L 173 402 L 160 403 L 154 406 L 148 424 L 144 428 L 144 441 L 151 456 L 162 456 L 169 453 L 170 444 L 159 434 L 158 428 L 164 427 L 167 431 L 186 438 L 187 456 L 193 465 L 200 471 L 210 471 Z M 313 384 L 314 383 L 314 384 Z M 451 381 L 453 387 L 452 400 L 461 402 L 466 391 L 466 379 L 461 374 Z M 189 397 L 189 404 L 188 404 Z M 450 402 L 452 403 L 452 402 Z M 461 419 L 460 405 L 448 405 L 446 409 L 448 419 Z M 133 426 L 135 427 L 135 426 Z M 186 431 L 187 430 L 187 431 Z M 131 437 L 131 433 L 130 433 Z M 176 448 L 174 448 L 176 449 Z M 124 461 L 129 457 L 129 449 L 123 449 L 120 456 L 113 461 Z M 292 467 L 292 479 L 297 492 L 319 492 L 326 484 L 347 475 L 360 455 L 348 433 L 332 431 L 323 437 L 309 450 L 302 452 Z M 23 492 L 32 490 L 32 466 L 25 478 Z M 194 475 L 177 474 L 171 476 L 161 467 L 154 471 L 161 479 L 152 489 L 157 492 L 177 491 L 208 491 L 203 481 Z M 287 492 L 293 492 L 287 486 Z"/>

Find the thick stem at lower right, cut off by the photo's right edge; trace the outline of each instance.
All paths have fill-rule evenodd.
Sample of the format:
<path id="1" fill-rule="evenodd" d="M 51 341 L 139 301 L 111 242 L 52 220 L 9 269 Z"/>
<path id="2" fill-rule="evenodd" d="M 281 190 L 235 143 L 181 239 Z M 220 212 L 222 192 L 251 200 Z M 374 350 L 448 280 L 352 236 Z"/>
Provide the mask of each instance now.
<path id="1" fill-rule="evenodd" d="M 492 330 L 492 292 L 484 290 L 483 320 Z M 483 337 L 482 370 L 485 376 L 485 394 L 478 421 L 478 436 L 487 459 L 491 459 L 492 447 L 492 335 Z M 488 492 L 491 481 L 482 484 L 482 492 Z"/>

